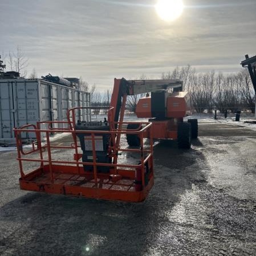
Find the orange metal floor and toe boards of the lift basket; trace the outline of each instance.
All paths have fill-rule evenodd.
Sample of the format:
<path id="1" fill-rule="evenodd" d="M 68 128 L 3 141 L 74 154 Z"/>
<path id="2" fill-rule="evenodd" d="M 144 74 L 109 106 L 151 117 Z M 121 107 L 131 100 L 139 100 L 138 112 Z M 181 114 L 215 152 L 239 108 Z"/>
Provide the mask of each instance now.
<path id="1" fill-rule="evenodd" d="M 135 178 L 132 177 L 122 176 L 120 180 L 115 181 L 109 174 L 99 173 L 95 181 L 92 173 L 75 174 L 75 166 L 68 167 L 68 172 L 63 172 L 61 165 L 52 165 L 51 168 L 52 173 L 49 165 L 46 165 L 20 178 L 21 189 L 105 200 L 140 202 L 145 200 L 153 186 L 152 177 L 149 178 L 144 189 L 136 191 Z M 131 174 L 129 176 L 134 175 L 132 172 Z M 115 174 L 113 176 L 115 177 Z"/>

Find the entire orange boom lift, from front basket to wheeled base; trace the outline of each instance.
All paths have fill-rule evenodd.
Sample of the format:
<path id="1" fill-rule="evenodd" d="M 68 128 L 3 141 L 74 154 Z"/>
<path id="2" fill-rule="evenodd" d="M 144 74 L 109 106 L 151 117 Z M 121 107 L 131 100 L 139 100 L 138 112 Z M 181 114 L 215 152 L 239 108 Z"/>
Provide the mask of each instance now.
<path id="1" fill-rule="evenodd" d="M 189 97 L 179 92 L 181 87 L 180 80 L 115 79 L 108 117 L 103 121 L 81 120 L 88 108 L 75 107 L 68 110 L 68 121 L 44 121 L 15 128 L 21 189 L 105 200 L 145 200 L 154 182 L 153 132 L 154 137 L 178 141 L 183 135 L 186 138 L 180 138 L 180 145 L 190 145 L 191 125 L 183 122 Z M 143 92 L 151 92 L 151 97 L 142 98 L 136 112 L 138 117 L 150 117 L 150 121 L 125 122 L 127 96 Z M 164 128 L 165 132 L 159 132 Z M 28 132 L 36 137 L 32 149 L 22 145 L 23 133 Z M 54 144 L 50 140 L 52 133 L 69 133 L 72 143 Z M 140 147 L 127 147 L 122 135 L 127 136 L 129 145 Z M 149 144 L 145 144 L 146 137 Z M 69 159 L 71 155 L 73 159 Z M 128 155 L 135 162 L 125 162 Z M 24 166 L 31 161 L 39 165 L 32 172 Z"/>

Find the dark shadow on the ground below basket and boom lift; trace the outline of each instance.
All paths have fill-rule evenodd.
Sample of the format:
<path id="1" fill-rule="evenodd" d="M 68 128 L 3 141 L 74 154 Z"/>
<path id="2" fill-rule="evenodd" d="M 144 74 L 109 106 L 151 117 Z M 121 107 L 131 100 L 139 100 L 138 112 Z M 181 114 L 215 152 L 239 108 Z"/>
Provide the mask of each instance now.
<path id="1" fill-rule="evenodd" d="M 4 205 L 1 255 L 154 255 L 152 245 L 169 221 L 165 212 L 193 182 L 205 181 L 198 166 L 204 156 L 195 149 L 160 141 L 154 158 L 155 186 L 142 203 L 28 192 Z"/>

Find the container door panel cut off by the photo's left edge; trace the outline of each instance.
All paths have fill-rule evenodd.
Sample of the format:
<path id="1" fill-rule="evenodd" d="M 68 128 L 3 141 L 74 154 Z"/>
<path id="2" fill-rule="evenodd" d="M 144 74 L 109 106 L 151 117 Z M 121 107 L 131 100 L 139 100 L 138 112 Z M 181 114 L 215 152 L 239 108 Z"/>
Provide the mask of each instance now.
<path id="1" fill-rule="evenodd" d="M 0 138 L 14 138 L 13 128 L 16 126 L 14 119 L 13 86 L 11 82 L 0 82 Z"/>

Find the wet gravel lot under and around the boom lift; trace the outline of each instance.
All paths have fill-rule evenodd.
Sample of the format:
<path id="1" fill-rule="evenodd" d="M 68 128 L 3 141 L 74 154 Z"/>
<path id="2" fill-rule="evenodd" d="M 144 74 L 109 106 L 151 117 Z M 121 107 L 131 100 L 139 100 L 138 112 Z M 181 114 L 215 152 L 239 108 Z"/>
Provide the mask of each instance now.
<path id="1" fill-rule="evenodd" d="M 155 144 L 139 204 L 21 191 L 16 152 L 0 152 L 0 255 L 256 255 L 256 132 L 199 128 L 187 151 Z"/>

